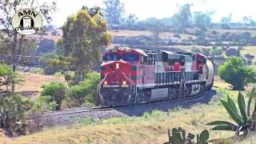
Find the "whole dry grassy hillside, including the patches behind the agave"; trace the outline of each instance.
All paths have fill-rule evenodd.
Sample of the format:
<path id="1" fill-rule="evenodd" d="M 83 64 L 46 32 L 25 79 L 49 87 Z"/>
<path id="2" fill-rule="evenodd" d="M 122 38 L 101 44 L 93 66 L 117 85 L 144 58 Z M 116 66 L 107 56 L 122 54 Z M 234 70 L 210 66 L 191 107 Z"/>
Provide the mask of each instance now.
<path id="1" fill-rule="evenodd" d="M 234 102 L 237 102 L 238 91 L 223 90 L 228 86 L 219 78 L 215 78 L 214 89 L 224 94 L 224 99 L 226 99 L 225 95 L 229 94 Z M 245 92 L 243 94 L 246 95 Z M 246 97 L 247 101 L 248 97 Z M 170 111 L 170 115 L 157 110 L 152 114 L 146 113 L 139 118 L 110 118 L 94 122 L 85 118 L 74 126 L 57 127 L 13 139 L 0 134 L 0 143 L 163 143 L 168 140 L 167 130 L 174 127 L 181 126 L 186 130 L 186 133 L 199 134 L 202 130 L 210 130 L 213 127 L 206 126 L 205 123 L 207 122 L 214 120 L 232 122 L 220 102 L 211 100 L 209 103 L 209 105 L 194 106 L 191 109 L 177 107 Z M 210 130 L 210 139 L 229 138 L 233 135 L 234 132 Z M 242 143 L 251 143 L 256 139 L 253 138 L 251 137 Z"/>

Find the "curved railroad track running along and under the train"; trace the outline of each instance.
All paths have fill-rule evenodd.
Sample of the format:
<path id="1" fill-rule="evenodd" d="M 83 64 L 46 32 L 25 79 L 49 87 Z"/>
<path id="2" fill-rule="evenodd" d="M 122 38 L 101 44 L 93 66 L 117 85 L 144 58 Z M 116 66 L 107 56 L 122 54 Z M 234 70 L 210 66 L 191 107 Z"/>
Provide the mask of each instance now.
<path id="1" fill-rule="evenodd" d="M 205 92 L 203 94 L 198 94 L 194 97 L 182 98 L 182 99 L 173 100 L 173 101 L 144 102 L 144 103 L 142 103 L 142 105 L 138 105 L 138 106 L 160 105 L 160 104 L 165 104 L 165 103 L 190 102 L 190 101 L 200 100 L 200 99 L 204 98 L 205 97 L 204 94 L 207 94 L 207 92 Z M 133 106 L 104 106 L 104 107 L 93 107 L 93 108 L 82 107 L 82 108 L 71 109 L 71 110 L 48 111 L 48 112 L 44 112 L 40 115 L 42 117 L 46 117 L 46 116 L 54 116 L 54 115 L 76 114 L 76 113 L 83 113 L 83 112 L 90 112 L 90 111 L 122 110 L 122 109 L 129 109 L 130 107 L 133 107 Z"/>

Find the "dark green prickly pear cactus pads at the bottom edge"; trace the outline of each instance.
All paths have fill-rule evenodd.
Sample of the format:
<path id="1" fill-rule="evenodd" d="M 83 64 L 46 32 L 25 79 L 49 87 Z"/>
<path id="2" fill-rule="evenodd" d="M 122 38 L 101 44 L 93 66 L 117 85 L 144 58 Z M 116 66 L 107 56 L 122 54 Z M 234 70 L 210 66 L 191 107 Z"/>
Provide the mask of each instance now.
<path id="1" fill-rule="evenodd" d="M 186 136 L 186 131 L 181 127 L 178 129 L 173 128 L 172 136 L 170 135 L 170 130 L 168 130 L 169 142 L 165 142 L 164 144 L 208 144 L 207 139 L 209 138 L 208 130 L 203 130 L 202 133 L 198 136 L 197 142 L 192 142 L 194 139 L 194 134 L 188 134 Z"/>

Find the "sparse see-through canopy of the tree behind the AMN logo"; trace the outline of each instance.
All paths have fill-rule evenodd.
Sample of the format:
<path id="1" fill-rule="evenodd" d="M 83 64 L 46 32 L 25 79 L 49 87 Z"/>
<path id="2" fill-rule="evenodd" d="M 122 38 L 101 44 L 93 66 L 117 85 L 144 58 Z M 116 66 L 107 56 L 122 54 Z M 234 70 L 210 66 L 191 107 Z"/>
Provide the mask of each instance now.
<path id="1" fill-rule="evenodd" d="M 23 58 L 26 55 L 30 55 L 31 47 L 36 47 L 37 39 L 28 37 L 24 34 L 18 34 L 14 30 L 11 21 L 13 15 L 20 9 L 30 7 L 33 10 L 37 10 L 42 17 L 50 22 L 52 18 L 50 14 L 56 10 L 55 2 L 47 3 L 38 0 L 10 0 L 0 2 L 0 27 L 3 27 L 3 34 L 0 34 L 0 53 L 6 58 L 10 58 L 10 64 L 13 66 L 13 71 L 16 70 L 16 66 L 22 63 Z M 14 91 L 14 85 L 12 86 Z"/>

